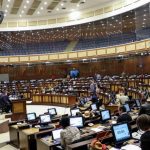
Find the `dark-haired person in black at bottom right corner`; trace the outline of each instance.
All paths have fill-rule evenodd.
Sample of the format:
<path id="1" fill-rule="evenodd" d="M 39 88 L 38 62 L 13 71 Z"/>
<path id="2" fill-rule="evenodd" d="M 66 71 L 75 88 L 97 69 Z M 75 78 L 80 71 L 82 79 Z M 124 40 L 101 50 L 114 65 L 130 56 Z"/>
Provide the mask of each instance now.
<path id="1" fill-rule="evenodd" d="M 150 116 L 142 114 L 137 118 L 137 126 L 140 130 L 144 131 L 141 135 L 141 149 L 149 150 L 150 149 Z"/>

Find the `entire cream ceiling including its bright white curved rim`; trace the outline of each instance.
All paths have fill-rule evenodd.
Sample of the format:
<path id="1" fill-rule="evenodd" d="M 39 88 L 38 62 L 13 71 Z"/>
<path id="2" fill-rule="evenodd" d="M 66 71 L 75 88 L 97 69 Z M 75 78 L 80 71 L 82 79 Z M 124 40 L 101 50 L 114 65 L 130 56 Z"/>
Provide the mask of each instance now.
<path id="1" fill-rule="evenodd" d="M 133 10 L 149 2 L 150 0 L 0 0 L 0 10 L 4 12 L 0 31 L 83 24 Z"/>

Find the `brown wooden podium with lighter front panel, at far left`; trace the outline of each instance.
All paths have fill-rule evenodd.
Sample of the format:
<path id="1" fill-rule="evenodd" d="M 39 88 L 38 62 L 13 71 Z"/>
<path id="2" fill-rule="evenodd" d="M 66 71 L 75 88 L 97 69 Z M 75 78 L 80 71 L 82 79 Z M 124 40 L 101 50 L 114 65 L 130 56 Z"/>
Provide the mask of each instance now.
<path id="1" fill-rule="evenodd" d="M 26 117 L 26 100 L 12 100 L 11 121 L 23 120 Z"/>

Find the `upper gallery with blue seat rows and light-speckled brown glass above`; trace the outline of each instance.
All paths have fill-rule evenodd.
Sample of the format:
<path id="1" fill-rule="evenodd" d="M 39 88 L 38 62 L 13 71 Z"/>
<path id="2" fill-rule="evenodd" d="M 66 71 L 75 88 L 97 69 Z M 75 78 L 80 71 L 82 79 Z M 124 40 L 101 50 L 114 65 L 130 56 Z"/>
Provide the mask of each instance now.
<path id="1" fill-rule="evenodd" d="M 30 55 L 119 45 L 150 38 L 149 3 L 106 19 L 53 29 L 0 32 L 0 56 Z"/>

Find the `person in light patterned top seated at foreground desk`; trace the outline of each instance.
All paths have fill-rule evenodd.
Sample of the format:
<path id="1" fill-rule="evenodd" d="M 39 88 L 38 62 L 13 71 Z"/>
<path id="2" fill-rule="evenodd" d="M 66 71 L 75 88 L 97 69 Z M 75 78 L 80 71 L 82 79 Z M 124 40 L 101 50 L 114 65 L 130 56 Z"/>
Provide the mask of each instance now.
<path id="1" fill-rule="evenodd" d="M 61 118 L 60 125 L 63 130 L 60 133 L 61 145 L 67 149 L 67 145 L 81 138 L 80 131 L 77 127 L 69 126 L 69 117 Z"/>

